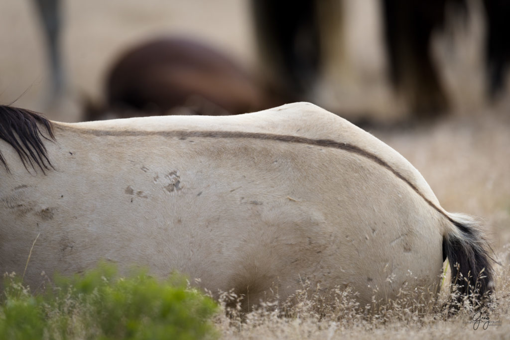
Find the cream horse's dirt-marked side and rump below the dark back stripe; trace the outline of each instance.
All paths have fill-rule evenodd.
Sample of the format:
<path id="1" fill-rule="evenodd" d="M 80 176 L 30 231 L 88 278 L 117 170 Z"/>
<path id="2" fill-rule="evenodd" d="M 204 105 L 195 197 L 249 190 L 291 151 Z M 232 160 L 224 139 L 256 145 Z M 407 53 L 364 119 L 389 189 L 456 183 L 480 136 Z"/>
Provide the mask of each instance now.
<path id="1" fill-rule="evenodd" d="M 439 214 L 355 153 L 243 138 L 56 138 L 46 145 L 56 171 L 13 169 L 2 183 L 0 269 L 21 273 L 40 234 L 32 286 L 42 271 L 82 272 L 99 259 L 161 276 L 176 269 L 256 300 L 271 288 L 285 298 L 306 280 L 351 286 L 367 303 L 412 277 L 439 281 Z"/>

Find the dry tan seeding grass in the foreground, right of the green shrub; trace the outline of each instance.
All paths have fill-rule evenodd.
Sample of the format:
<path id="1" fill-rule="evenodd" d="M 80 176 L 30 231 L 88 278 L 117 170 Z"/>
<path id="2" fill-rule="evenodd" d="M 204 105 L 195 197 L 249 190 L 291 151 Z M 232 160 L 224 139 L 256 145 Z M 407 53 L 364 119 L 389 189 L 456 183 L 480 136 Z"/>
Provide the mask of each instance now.
<path id="1" fill-rule="evenodd" d="M 508 251 L 499 255 L 507 257 Z M 225 339 L 505 337 L 510 331 L 508 274 L 508 263 L 496 268 L 498 291 L 490 309 L 478 313 L 466 303 L 448 317 L 442 307 L 448 301 L 448 285 L 437 301 L 415 300 L 412 288 L 402 291 L 399 300 L 375 309 L 360 306 L 353 292 L 342 290 L 330 292 L 334 302 L 324 305 L 323 295 L 303 287 L 287 304 L 263 304 L 247 315 L 239 312 L 239 306 L 228 307 L 242 297 L 224 294 L 221 302 L 226 313 L 217 317 L 216 324 Z M 480 315 L 480 322 L 475 322 L 473 318 Z"/>

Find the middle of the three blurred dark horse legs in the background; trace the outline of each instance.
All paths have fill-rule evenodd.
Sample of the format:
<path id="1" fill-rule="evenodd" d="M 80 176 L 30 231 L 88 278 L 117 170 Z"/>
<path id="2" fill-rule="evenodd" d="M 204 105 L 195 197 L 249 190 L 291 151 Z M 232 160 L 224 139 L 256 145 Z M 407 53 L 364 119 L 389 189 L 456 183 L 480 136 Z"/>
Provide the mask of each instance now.
<path id="1" fill-rule="evenodd" d="M 437 116 L 448 109 L 430 54 L 431 35 L 445 22 L 445 4 L 444 0 L 382 2 L 390 80 L 417 118 Z"/>

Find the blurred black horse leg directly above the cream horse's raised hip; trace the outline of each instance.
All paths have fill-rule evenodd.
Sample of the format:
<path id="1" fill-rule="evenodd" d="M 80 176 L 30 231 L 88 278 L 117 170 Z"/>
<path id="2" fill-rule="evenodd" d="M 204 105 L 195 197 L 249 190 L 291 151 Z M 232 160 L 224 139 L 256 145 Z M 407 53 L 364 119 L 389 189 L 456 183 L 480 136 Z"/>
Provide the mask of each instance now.
<path id="1" fill-rule="evenodd" d="M 304 100 L 321 62 L 316 2 L 252 0 L 251 6 L 268 81 L 289 101 Z"/>

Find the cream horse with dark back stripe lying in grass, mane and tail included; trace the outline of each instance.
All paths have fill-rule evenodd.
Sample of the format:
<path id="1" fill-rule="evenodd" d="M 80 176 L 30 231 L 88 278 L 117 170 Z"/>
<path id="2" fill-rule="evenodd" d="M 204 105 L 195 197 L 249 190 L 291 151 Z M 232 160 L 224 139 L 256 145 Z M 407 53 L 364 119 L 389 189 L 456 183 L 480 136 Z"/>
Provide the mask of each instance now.
<path id="1" fill-rule="evenodd" d="M 474 222 L 444 211 L 398 152 L 310 103 L 75 124 L 1 107 L 0 137 L 0 271 L 23 273 L 37 238 L 33 289 L 41 272 L 104 259 L 250 303 L 308 280 L 350 286 L 363 305 L 395 298 L 409 271 L 435 292 L 448 256 L 453 277 L 484 268 L 491 290 Z"/>

